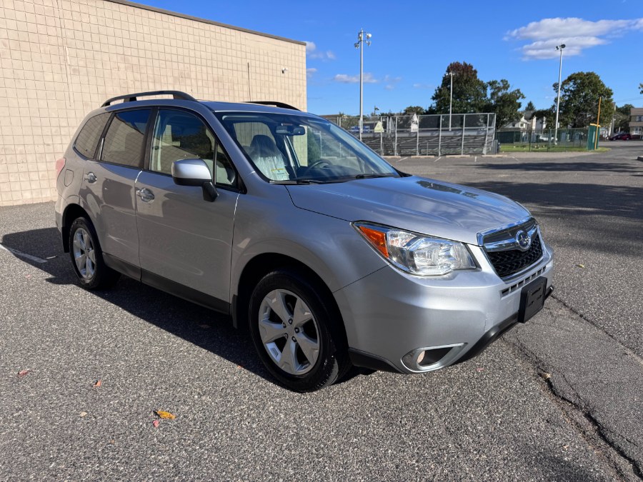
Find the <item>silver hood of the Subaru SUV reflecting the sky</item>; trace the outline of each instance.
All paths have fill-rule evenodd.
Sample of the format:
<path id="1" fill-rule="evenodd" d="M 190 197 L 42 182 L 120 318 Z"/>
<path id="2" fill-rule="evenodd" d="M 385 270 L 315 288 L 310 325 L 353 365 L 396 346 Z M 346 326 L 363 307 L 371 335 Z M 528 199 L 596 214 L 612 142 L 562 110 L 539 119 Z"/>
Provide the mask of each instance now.
<path id="1" fill-rule="evenodd" d="M 477 244 L 477 234 L 529 211 L 499 194 L 417 176 L 286 186 L 300 209 Z"/>

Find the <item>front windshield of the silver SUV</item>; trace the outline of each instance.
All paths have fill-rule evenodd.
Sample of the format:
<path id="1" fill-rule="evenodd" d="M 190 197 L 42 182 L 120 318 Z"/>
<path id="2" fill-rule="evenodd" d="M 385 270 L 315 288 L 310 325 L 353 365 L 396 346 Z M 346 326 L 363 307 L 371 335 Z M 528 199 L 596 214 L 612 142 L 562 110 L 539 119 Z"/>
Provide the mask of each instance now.
<path id="1" fill-rule="evenodd" d="M 399 177 L 387 161 L 326 119 L 258 112 L 215 114 L 256 170 L 272 183 Z"/>

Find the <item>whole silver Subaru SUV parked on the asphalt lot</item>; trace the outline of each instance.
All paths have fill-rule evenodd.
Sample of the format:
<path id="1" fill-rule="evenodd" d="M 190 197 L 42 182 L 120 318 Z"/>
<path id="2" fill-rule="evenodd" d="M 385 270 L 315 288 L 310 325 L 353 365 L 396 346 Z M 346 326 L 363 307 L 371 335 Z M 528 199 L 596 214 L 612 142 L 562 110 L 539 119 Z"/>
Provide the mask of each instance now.
<path id="1" fill-rule="evenodd" d="M 278 102 L 109 99 L 56 169 L 56 225 L 81 286 L 124 274 L 229 314 L 295 391 L 352 366 L 467 360 L 553 289 L 527 209 L 405 174 Z"/>

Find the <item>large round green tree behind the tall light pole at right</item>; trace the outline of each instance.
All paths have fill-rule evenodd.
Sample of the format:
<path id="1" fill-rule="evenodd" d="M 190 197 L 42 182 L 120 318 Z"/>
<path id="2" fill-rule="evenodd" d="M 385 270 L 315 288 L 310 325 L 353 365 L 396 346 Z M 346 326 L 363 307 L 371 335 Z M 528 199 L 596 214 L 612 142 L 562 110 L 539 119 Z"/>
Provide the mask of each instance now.
<path id="1" fill-rule="evenodd" d="M 554 84 L 558 91 L 558 82 Z M 601 102 L 601 119 L 599 124 L 607 126 L 612 123 L 614 101 L 612 89 L 609 89 L 594 72 L 575 72 L 565 79 L 560 89 L 561 126 L 587 127 L 596 122 L 599 97 Z"/>

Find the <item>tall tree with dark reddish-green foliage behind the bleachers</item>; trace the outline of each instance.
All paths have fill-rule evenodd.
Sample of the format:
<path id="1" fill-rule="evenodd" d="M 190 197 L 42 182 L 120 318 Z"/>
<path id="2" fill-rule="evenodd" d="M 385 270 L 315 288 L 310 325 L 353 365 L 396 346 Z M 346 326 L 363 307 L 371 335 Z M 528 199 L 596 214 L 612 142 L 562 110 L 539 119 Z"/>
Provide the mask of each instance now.
<path id="1" fill-rule="evenodd" d="M 453 74 L 453 106 L 454 114 L 482 112 L 487 104 L 487 84 L 478 79 L 478 71 L 467 62 L 452 62 L 447 72 L 442 76 L 442 84 L 435 89 L 432 96 L 434 104 L 429 111 L 436 114 L 449 114 L 449 98 L 451 94 L 451 76 Z"/>

